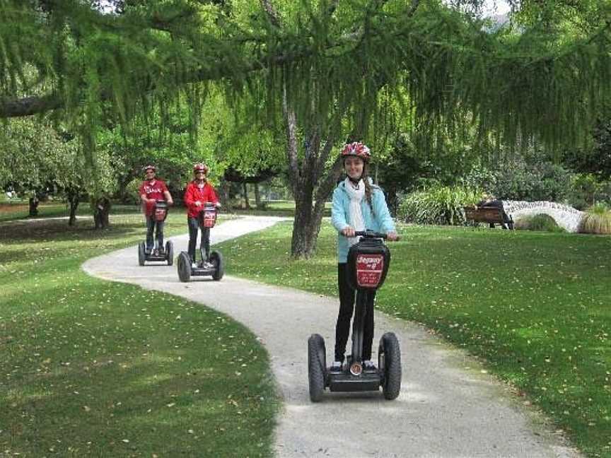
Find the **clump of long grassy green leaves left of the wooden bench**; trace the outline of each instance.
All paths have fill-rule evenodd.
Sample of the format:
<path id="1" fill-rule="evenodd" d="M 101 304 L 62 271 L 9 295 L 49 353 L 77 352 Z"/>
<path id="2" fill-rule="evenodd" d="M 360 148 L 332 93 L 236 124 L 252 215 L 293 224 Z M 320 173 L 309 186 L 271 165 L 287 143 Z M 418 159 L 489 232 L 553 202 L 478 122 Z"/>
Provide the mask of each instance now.
<path id="1" fill-rule="evenodd" d="M 402 221 L 417 224 L 465 223 L 464 206 L 476 204 L 482 192 L 463 187 L 431 187 L 426 191 L 407 194 L 399 206 L 397 216 Z"/>

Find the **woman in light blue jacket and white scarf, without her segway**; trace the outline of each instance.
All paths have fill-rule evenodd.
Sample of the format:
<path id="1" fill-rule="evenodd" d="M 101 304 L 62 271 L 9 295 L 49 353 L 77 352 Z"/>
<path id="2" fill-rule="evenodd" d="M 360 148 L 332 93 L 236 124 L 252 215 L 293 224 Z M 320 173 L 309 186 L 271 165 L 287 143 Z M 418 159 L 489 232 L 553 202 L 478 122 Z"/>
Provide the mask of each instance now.
<path id="1" fill-rule="evenodd" d="M 388 235 L 388 240 L 397 240 L 393 223 L 386 206 L 382 189 L 371 183 L 368 163 L 371 153 L 363 143 L 354 142 L 344 146 L 342 160 L 346 180 L 340 182 L 333 192 L 331 221 L 337 229 L 337 286 L 339 289 L 339 315 L 335 327 L 335 358 L 332 372 L 340 372 L 350 334 L 350 322 L 354 313 L 355 291 L 350 288 L 347 276 L 348 249 L 359 241 L 356 230 L 374 230 Z M 363 360 L 366 370 L 374 370 L 371 362 L 373 343 L 373 301 L 366 311 L 363 333 Z"/>

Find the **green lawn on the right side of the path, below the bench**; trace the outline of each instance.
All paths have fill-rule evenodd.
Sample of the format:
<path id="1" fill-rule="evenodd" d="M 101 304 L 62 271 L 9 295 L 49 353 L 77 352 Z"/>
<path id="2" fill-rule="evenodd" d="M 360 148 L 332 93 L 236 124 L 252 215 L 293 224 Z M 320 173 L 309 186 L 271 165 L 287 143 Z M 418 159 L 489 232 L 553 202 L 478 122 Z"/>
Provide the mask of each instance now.
<path id="1" fill-rule="evenodd" d="M 292 223 L 220 246 L 228 273 L 336 295 L 328 223 L 289 262 Z M 611 457 L 611 237 L 403 227 L 376 306 L 483 358 L 592 457 Z"/>

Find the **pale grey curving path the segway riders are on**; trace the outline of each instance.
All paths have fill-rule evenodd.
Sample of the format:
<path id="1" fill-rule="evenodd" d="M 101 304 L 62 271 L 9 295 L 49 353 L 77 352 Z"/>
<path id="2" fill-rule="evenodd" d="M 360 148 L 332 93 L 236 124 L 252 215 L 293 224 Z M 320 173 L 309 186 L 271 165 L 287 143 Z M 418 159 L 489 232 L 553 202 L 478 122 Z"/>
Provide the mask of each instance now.
<path id="1" fill-rule="evenodd" d="M 212 242 L 277 221 L 267 217 L 227 221 L 211 231 Z M 172 240 L 176 254 L 186 249 L 187 235 Z M 381 392 L 334 393 L 312 404 L 307 339 L 313 332 L 322 334 L 330 358 L 337 314 L 333 298 L 231 276 L 219 282 L 180 283 L 175 266 L 140 267 L 136 247 L 90 259 L 83 269 L 107 280 L 180 295 L 252 329 L 269 352 L 284 397 L 275 445 L 279 457 L 580 457 L 472 358 L 402 319 L 377 313 L 374 341 L 377 348 L 379 337 L 389 330 L 399 338 L 400 397 L 385 401 Z"/>

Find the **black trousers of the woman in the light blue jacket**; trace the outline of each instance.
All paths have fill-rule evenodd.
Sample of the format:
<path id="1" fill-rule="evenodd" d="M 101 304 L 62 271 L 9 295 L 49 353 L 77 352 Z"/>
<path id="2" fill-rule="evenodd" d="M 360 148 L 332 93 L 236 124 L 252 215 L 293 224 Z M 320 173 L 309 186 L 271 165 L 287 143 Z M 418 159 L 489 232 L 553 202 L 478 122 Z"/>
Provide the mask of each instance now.
<path id="1" fill-rule="evenodd" d="M 337 286 L 339 288 L 339 314 L 335 325 L 335 360 L 343 361 L 346 352 L 346 344 L 350 334 L 350 322 L 354 314 L 354 299 L 356 291 L 348 284 L 347 263 L 337 264 Z M 363 329 L 363 360 L 371 359 L 371 345 L 373 343 L 373 298 L 371 304 L 367 305 L 365 312 L 365 326 Z"/>

